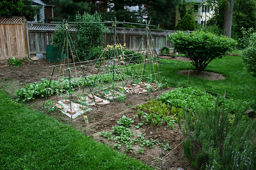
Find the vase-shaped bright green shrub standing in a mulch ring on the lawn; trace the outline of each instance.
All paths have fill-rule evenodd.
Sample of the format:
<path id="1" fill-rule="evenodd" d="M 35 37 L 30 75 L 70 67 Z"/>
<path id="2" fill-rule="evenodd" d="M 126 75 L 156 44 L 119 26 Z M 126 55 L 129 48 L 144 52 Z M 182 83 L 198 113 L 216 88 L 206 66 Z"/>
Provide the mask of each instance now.
<path id="1" fill-rule="evenodd" d="M 168 41 L 179 53 L 184 53 L 192 60 L 196 73 L 200 74 L 213 60 L 221 58 L 236 45 L 236 41 L 225 36 L 216 36 L 210 32 L 194 31 L 192 33 L 178 31 L 168 35 Z"/>

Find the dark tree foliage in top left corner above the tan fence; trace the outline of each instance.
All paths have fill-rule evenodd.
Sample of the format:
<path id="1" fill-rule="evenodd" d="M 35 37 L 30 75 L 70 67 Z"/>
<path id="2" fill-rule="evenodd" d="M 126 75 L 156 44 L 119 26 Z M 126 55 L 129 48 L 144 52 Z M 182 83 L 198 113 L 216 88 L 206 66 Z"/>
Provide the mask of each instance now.
<path id="1" fill-rule="evenodd" d="M 31 6 L 32 0 L 2 0 L 0 1 L 0 16 L 25 16 L 27 20 L 33 20 L 39 13 L 39 8 Z"/>

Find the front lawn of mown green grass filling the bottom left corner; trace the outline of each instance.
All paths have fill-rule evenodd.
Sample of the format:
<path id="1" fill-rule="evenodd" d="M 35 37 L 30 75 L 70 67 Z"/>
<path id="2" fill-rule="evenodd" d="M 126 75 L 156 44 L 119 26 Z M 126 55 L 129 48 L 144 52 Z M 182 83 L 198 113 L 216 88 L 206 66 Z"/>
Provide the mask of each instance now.
<path id="1" fill-rule="evenodd" d="M 0 169 L 150 169 L 0 91 Z"/>

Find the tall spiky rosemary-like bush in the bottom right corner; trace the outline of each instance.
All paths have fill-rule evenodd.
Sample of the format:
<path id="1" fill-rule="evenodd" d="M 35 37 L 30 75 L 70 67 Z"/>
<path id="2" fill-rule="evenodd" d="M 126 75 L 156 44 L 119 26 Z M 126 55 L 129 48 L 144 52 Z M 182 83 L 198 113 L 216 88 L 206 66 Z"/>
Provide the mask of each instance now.
<path id="1" fill-rule="evenodd" d="M 248 119 L 241 107 L 230 121 L 234 108 L 221 108 L 219 99 L 214 105 L 198 108 L 196 119 L 191 113 L 184 114 L 186 158 L 200 169 L 255 169 L 255 120 Z"/>

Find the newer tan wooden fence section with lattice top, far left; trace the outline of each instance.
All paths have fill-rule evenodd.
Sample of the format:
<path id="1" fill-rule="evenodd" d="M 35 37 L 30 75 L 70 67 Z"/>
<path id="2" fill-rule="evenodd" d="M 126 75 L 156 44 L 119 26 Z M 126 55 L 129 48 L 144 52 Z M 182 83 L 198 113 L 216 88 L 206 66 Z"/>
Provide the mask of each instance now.
<path id="1" fill-rule="evenodd" d="M 0 61 L 28 57 L 24 17 L 0 17 Z"/>

